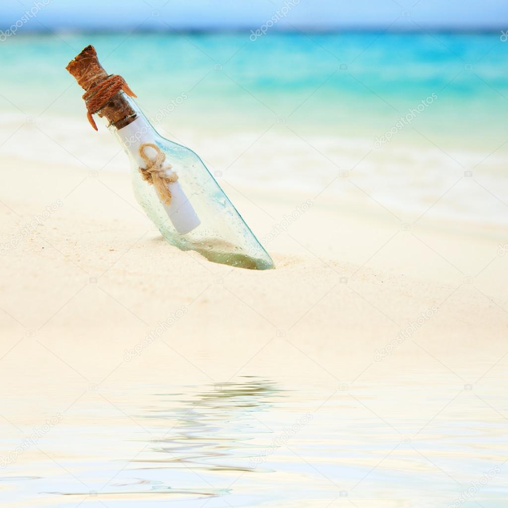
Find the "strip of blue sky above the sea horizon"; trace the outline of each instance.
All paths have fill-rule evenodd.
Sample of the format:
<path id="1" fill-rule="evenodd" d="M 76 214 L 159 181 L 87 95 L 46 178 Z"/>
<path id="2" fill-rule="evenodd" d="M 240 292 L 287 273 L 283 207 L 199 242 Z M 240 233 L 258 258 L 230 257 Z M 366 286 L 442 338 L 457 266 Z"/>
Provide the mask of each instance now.
<path id="1" fill-rule="evenodd" d="M 0 26 L 39 5 L 20 31 L 256 28 L 284 5 L 276 29 L 508 29 L 507 0 L 0 0 Z M 47 4 L 47 5 L 44 5 Z M 280 12 L 280 11 L 279 11 Z M 392 24 L 393 23 L 393 24 Z"/>

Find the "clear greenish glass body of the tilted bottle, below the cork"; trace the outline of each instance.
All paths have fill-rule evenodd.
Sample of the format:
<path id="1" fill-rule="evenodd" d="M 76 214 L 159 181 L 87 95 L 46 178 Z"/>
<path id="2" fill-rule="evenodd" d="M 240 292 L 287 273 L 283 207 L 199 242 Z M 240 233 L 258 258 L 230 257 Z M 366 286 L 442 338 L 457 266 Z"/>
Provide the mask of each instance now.
<path id="1" fill-rule="evenodd" d="M 182 250 L 195 250 L 216 263 L 258 270 L 273 268 L 270 256 L 200 157 L 160 136 L 132 103 L 136 119 L 122 129 L 110 129 L 129 156 L 135 197 L 163 237 Z M 169 205 L 140 171 L 146 167 L 146 157 L 155 160 L 157 154 L 164 154 L 165 167 L 171 167 L 167 172 L 177 177 L 168 184 Z"/>

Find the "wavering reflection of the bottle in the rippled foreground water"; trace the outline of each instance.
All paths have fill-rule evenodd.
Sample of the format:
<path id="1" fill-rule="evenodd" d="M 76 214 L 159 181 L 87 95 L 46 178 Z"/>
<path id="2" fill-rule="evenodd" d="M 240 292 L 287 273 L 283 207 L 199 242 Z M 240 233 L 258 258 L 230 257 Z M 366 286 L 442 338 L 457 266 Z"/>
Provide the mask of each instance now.
<path id="1" fill-rule="evenodd" d="M 228 495 L 241 474 L 262 470 L 248 466 L 260 447 L 249 441 L 272 432 L 259 416 L 283 396 L 276 383 L 258 377 L 154 394 L 155 402 L 133 415 L 145 420 L 142 427 L 152 438 L 139 439 L 140 451 L 123 467 L 102 463 L 100 476 L 109 481 L 90 492 L 96 490 L 93 497 L 107 500 L 108 507 L 140 501 L 148 507 L 164 499 L 199 506 L 200 499 Z M 132 431 L 124 434 L 131 444 L 138 441 L 133 436 Z M 70 486 L 41 493 L 93 501 L 89 492 Z"/>

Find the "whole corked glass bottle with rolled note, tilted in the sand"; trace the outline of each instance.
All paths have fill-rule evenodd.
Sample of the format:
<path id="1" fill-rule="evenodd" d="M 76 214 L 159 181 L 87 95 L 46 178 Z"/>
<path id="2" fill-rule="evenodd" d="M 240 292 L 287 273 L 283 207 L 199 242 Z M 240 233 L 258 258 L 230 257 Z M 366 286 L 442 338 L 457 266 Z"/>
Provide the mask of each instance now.
<path id="1" fill-rule="evenodd" d="M 104 118 L 129 156 L 136 199 L 169 243 L 215 263 L 274 267 L 199 156 L 157 133 L 129 85 L 105 71 L 93 46 L 83 48 L 66 69 L 85 90 L 92 127 L 97 130 L 93 114 Z"/>

